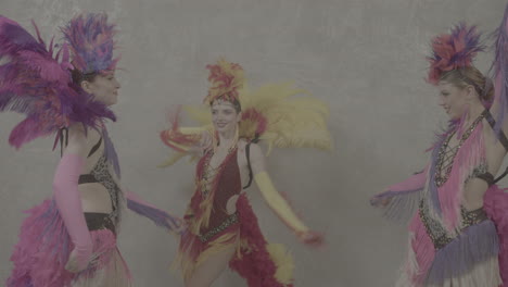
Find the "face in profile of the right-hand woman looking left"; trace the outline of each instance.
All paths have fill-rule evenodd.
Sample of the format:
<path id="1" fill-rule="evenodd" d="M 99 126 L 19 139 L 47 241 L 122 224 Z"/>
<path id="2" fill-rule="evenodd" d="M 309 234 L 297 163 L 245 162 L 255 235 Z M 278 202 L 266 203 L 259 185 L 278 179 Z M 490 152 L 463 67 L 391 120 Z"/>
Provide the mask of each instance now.
<path id="1" fill-rule="evenodd" d="M 440 105 L 443 107 L 449 118 L 460 118 L 468 109 L 467 89 L 461 89 L 447 82 L 440 82 L 437 89 L 440 90 Z"/>

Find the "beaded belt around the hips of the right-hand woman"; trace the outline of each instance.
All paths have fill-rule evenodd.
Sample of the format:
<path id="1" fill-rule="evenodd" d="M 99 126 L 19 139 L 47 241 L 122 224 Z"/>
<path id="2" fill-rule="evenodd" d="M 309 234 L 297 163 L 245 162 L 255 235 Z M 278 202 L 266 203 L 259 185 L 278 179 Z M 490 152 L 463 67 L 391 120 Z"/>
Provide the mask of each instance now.
<path id="1" fill-rule="evenodd" d="M 462 216 L 462 230 L 471 225 L 475 225 L 487 220 L 483 208 L 473 211 L 467 211 L 463 207 L 460 207 L 460 214 Z M 435 250 L 442 249 L 455 239 L 455 237 L 450 236 L 446 228 L 443 227 L 439 221 L 429 216 L 429 207 L 423 203 L 423 200 L 420 201 L 419 215 L 421 222 L 426 226 L 427 234 L 434 244 Z"/>

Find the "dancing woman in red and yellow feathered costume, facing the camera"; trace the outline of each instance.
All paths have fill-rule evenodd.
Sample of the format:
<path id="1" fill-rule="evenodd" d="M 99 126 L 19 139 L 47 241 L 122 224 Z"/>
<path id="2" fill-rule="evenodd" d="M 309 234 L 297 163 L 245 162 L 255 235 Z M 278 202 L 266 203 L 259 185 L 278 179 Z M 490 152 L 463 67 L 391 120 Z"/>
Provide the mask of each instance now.
<path id="1" fill-rule="evenodd" d="M 211 88 L 201 110 L 190 110 L 203 127 L 173 127 L 161 134 L 179 153 L 200 157 L 195 192 L 185 215 L 176 264 L 187 287 L 211 286 L 229 263 L 251 287 L 292 286 L 292 259 L 280 245 L 266 241 L 249 203 L 246 188 L 257 184 L 264 199 L 303 242 L 320 245 L 277 192 L 266 171 L 258 140 L 269 148 L 331 148 L 326 105 L 290 85 L 271 85 L 251 92 L 243 88 L 243 70 L 225 60 L 208 65 Z M 211 115 L 209 115 L 211 114 Z"/>

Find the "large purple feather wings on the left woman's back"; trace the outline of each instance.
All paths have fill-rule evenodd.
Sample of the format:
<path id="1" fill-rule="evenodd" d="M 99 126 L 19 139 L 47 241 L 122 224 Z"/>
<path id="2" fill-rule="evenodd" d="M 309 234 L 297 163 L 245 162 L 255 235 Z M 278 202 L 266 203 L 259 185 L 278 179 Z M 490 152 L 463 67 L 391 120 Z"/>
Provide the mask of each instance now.
<path id="1" fill-rule="evenodd" d="M 37 39 L 0 15 L 0 112 L 26 115 L 11 132 L 9 142 L 20 148 L 73 123 L 98 127 L 102 118 L 115 121 L 106 105 L 73 83 L 68 46 L 54 51 L 53 40 L 47 47 L 34 26 Z"/>

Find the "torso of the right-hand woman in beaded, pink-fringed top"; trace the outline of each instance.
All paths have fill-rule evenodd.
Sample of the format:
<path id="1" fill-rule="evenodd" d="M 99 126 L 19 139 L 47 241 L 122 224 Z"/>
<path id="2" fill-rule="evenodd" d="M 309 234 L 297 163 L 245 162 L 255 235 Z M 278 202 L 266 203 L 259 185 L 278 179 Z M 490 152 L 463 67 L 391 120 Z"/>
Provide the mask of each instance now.
<path id="1" fill-rule="evenodd" d="M 442 211 L 435 212 L 435 208 L 432 209 L 434 212 L 431 211 L 433 200 L 430 199 L 432 188 L 429 189 L 429 186 L 419 207 L 418 215 L 437 249 L 450 242 L 460 230 L 487 220 L 483 210 L 483 196 L 492 182 L 485 180 L 484 176 L 495 175 L 506 154 L 505 147 L 482 116 L 463 129 L 460 137 L 456 133 L 457 130 L 449 133 L 442 145 L 436 147 L 439 153 L 435 171 L 429 183 L 436 186 L 440 198 L 437 205 Z M 463 174 L 462 170 L 468 174 Z M 458 185 L 462 185 L 462 194 L 458 191 L 461 188 Z M 442 201 L 455 197 L 459 197 L 458 201 Z M 450 202 L 456 204 L 449 205 Z M 453 222 L 450 219 L 455 212 L 459 214 L 458 224 L 455 227 L 452 227 L 454 224 L 446 227 Z M 452 217 L 446 214 L 452 214 Z"/>

